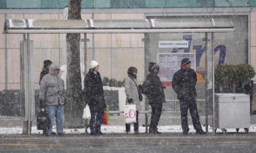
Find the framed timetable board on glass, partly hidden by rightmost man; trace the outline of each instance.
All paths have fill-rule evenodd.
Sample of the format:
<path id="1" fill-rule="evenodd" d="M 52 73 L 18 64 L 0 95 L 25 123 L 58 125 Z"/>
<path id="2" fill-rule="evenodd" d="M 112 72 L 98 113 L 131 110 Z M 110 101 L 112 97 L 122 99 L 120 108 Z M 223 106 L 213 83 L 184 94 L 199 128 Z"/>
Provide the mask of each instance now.
<path id="1" fill-rule="evenodd" d="M 159 77 L 162 82 L 171 82 L 174 73 L 180 69 L 181 60 L 189 58 L 191 61 L 191 69 L 196 71 L 195 53 L 157 53 L 157 63 L 160 66 Z"/>

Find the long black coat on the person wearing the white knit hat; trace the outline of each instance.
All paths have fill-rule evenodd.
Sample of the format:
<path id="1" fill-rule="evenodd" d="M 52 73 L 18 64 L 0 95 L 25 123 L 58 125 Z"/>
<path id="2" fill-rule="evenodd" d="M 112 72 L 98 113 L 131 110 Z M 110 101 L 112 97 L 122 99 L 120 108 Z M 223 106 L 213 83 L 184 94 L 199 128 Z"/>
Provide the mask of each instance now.
<path id="1" fill-rule="evenodd" d="M 101 75 L 89 70 L 84 78 L 84 101 L 89 105 L 90 111 L 98 112 L 105 110 L 105 99 Z"/>

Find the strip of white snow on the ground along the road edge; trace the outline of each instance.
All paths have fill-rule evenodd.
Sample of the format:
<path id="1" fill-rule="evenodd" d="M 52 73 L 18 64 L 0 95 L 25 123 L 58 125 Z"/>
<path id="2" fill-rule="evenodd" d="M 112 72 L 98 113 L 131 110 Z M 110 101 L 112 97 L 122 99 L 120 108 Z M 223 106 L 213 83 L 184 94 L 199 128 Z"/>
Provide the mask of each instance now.
<path id="1" fill-rule="evenodd" d="M 196 132 L 193 128 L 193 125 L 189 125 L 189 132 Z M 205 131 L 205 127 L 203 127 Z M 235 128 L 226 129 L 227 132 L 236 132 Z M 56 132 L 56 126 L 53 127 L 53 131 Z M 103 133 L 125 133 L 125 126 L 101 126 L 101 131 Z M 131 131 L 133 131 L 133 126 L 131 126 Z M 145 132 L 145 127 L 140 126 L 139 131 Z M 160 132 L 182 132 L 180 125 L 173 125 L 173 126 L 158 126 L 158 131 Z M 209 127 L 208 130 L 210 133 L 212 132 L 212 127 Z M 84 133 L 84 128 L 77 128 L 77 129 L 64 129 L 64 133 Z M 88 128 L 88 132 L 90 132 L 90 128 Z M 216 131 L 222 132 L 221 129 L 217 129 Z M 244 129 L 239 129 L 239 132 L 244 132 Z M 250 132 L 256 132 L 256 125 L 251 125 L 249 128 Z M 40 134 L 42 130 L 37 130 L 36 126 L 32 126 L 32 134 Z M 22 134 L 22 127 L 1 127 L 0 126 L 0 134 Z"/>

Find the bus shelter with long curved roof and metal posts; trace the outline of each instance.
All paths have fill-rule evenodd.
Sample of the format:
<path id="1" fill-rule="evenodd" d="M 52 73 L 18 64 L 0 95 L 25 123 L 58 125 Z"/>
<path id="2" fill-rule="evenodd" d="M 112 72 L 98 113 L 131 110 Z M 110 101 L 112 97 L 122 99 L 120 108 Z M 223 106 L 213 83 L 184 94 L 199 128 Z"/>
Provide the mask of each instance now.
<path id="1" fill-rule="evenodd" d="M 208 100 L 212 97 L 212 111 L 214 104 L 214 33 L 234 32 L 233 23 L 230 19 L 144 19 L 144 20 L 34 20 L 34 19 L 6 19 L 4 34 L 23 34 L 21 48 L 21 98 L 25 102 L 25 119 L 27 127 L 30 127 L 34 113 L 34 70 L 33 70 L 33 43 L 30 34 L 106 34 L 106 33 L 141 33 L 145 35 L 145 77 L 147 75 L 147 63 L 149 62 L 147 50 L 147 34 L 168 33 L 203 33 L 205 35 L 205 91 L 208 90 L 208 73 L 212 75 L 212 96 L 205 92 L 205 125 L 208 132 Z M 211 39 L 208 38 L 211 34 Z M 208 49 L 208 41 L 211 40 L 211 49 Z M 84 64 L 87 71 L 87 41 L 84 41 Z M 211 58 L 207 54 L 211 54 Z M 156 56 L 156 55 L 155 55 Z M 211 69 L 207 69 L 207 63 L 211 61 Z M 23 95 L 23 96 L 22 96 Z M 148 103 L 145 102 L 146 132 Z M 215 113 L 212 114 L 212 124 L 215 127 Z M 30 128 L 26 133 L 30 134 Z M 213 133 L 215 131 L 213 130 Z"/>

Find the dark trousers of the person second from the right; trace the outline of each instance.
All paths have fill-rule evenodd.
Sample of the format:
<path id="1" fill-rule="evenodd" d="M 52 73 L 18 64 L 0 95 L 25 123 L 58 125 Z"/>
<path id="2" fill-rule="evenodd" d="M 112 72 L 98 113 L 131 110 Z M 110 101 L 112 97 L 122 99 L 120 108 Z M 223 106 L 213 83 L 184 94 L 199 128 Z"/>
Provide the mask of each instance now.
<path id="1" fill-rule="evenodd" d="M 149 130 L 150 131 L 155 131 L 157 130 L 157 125 L 162 113 L 162 103 L 154 103 L 151 104 L 151 120 L 150 120 L 150 126 L 149 126 Z"/>

